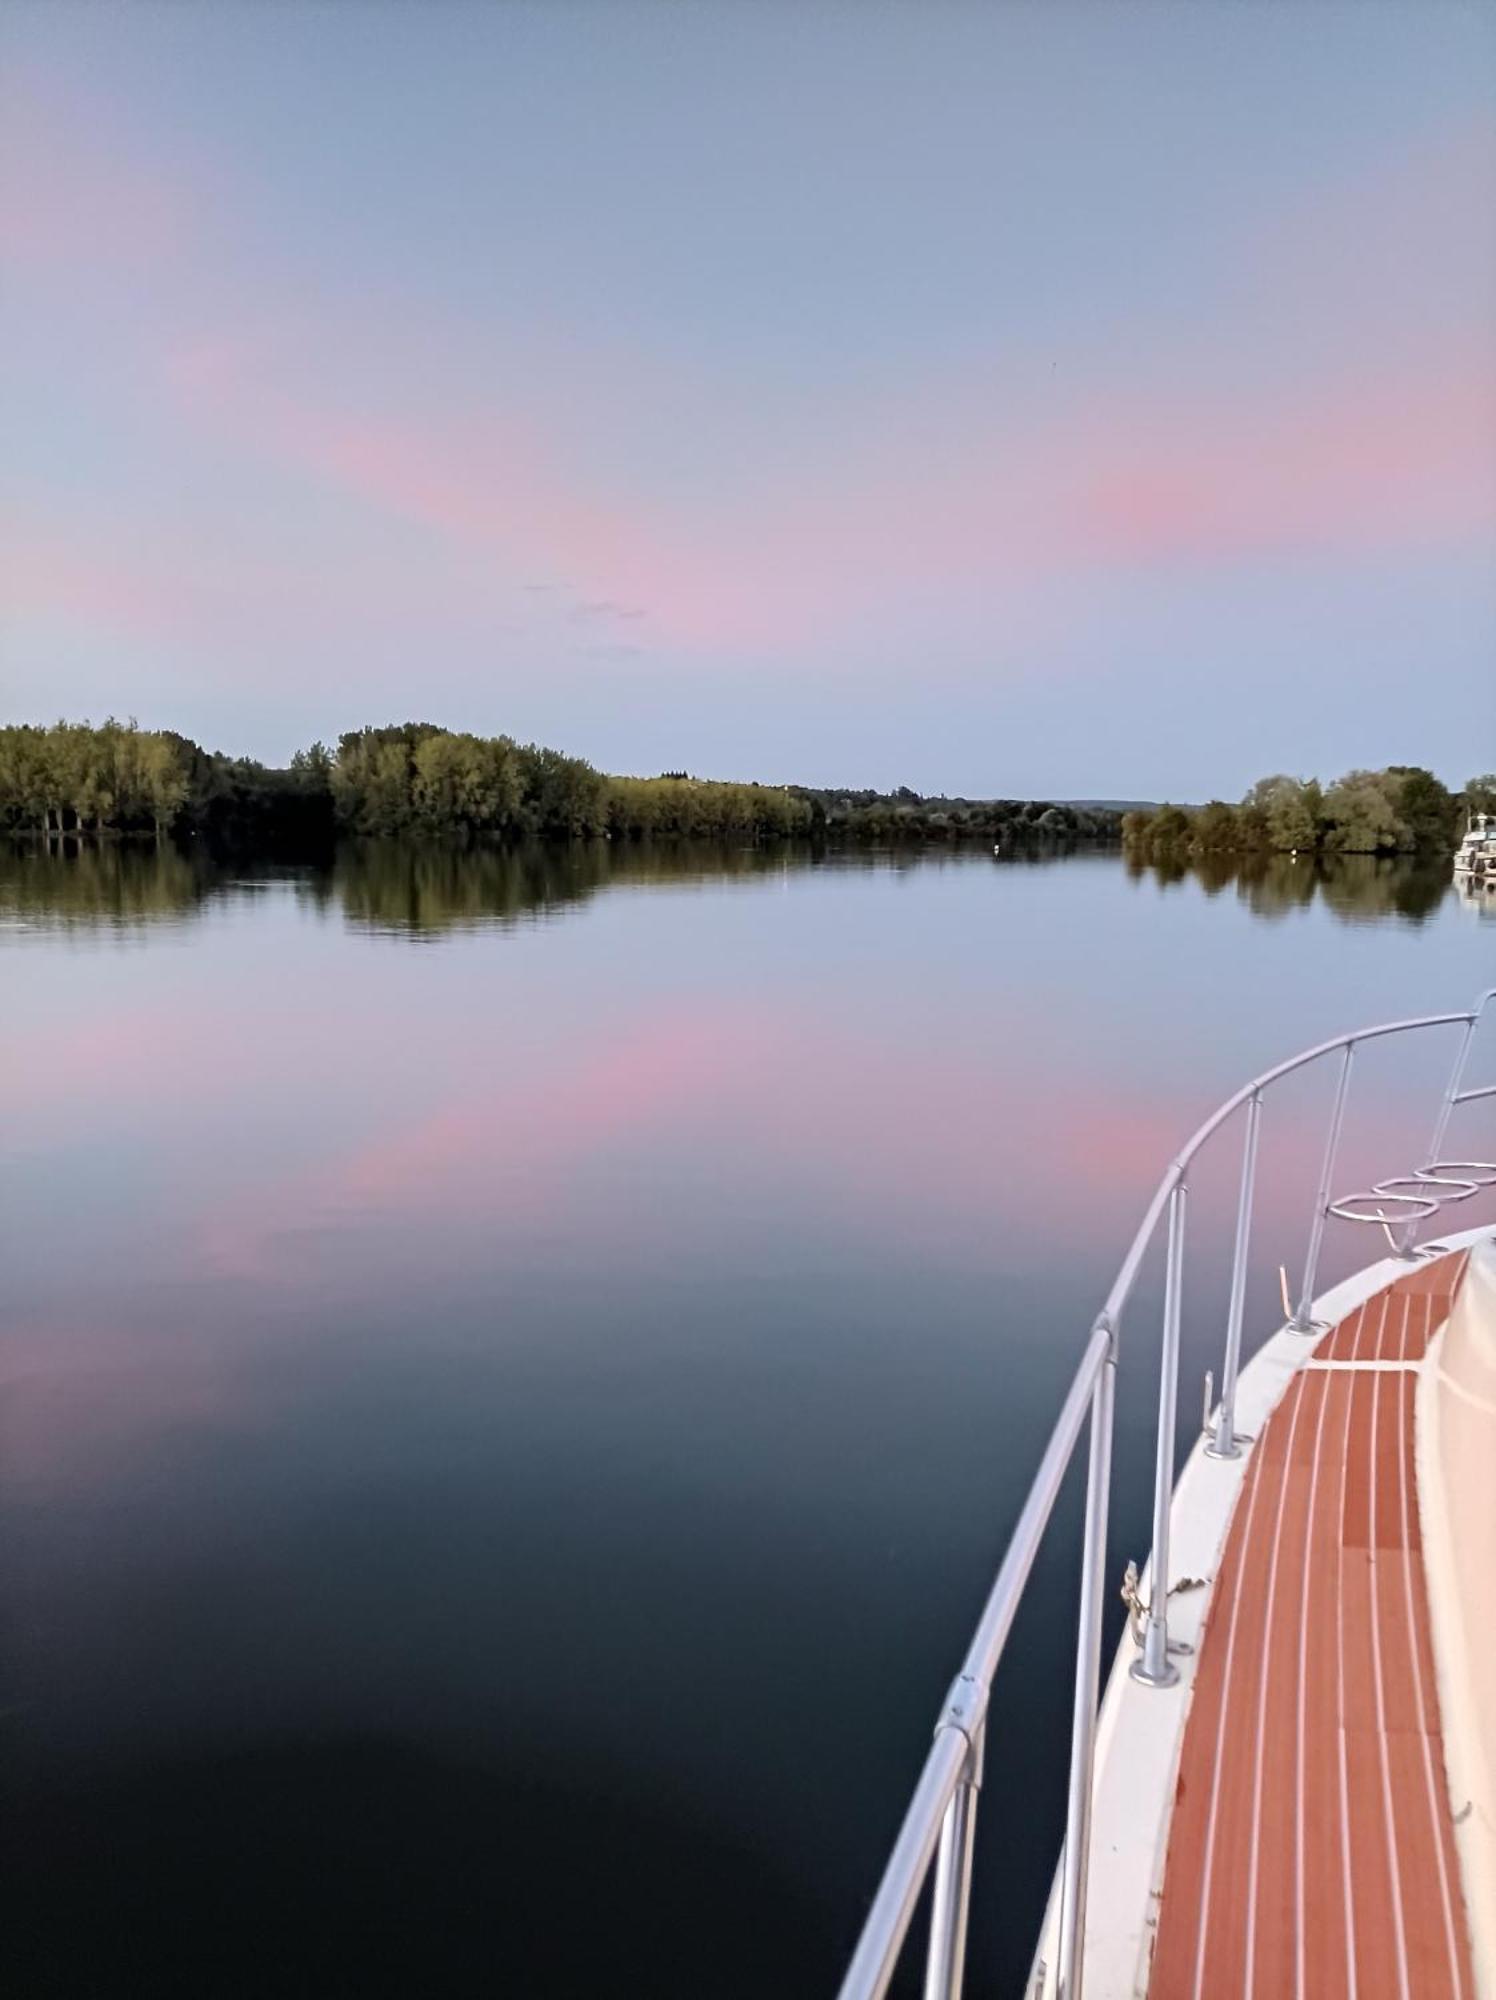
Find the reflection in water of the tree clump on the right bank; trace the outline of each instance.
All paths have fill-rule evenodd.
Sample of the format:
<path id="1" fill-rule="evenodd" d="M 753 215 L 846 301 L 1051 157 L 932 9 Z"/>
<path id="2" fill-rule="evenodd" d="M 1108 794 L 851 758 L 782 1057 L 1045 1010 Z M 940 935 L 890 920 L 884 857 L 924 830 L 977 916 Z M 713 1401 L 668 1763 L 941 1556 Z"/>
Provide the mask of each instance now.
<path id="1" fill-rule="evenodd" d="M 1186 878 L 1198 882 L 1206 896 L 1236 888 L 1238 898 L 1254 916 L 1282 918 L 1322 902 L 1326 910 L 1348 924 L 1402 916 L 1422 924 L 1450 890 L 1446 856 L 1428 860 L 1412 856 L 1344 854 L 1202 854 L 1196 860 L 1166 856 L 1142 862 L 1128 856 L 1128 874 L 1172 886 Z"/>

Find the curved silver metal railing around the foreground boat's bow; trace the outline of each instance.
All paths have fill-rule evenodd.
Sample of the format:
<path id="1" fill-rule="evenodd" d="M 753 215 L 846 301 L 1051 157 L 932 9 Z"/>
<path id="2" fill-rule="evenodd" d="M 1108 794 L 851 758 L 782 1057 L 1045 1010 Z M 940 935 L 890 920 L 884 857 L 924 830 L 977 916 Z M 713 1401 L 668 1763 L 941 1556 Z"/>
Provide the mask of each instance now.
<path id="1" fill-rule="evenodd" d="M 1164 1178 L 1148 1204 L 1142 1224 L 1122 1258 L 1122 1266 L 1106 1294 L 1106 1304 L 1098 1312 L 1080 1366 L 1070 1382 L 1070 1390 L 1060 1406 L 1060 1416 L 1044 1448 L 1044 1456 L 1028 1490 L 1028 1498 L 1018 1516 L 1018 1524 L 1008 1540 L 992 1592 L 982 1608 L 982 1616 L 966 1648 L 966 1658 L 950 1686 L 946 1704 L 934 1728 L 934 1740 L 924 1760 L 914 1796 L 910 1798 L 904 1822 L 894 1840 L 892 1854 L 884 1868 L 872 1908 L 862 1926 L 862 1936 L 852 1954 L 852 1962 L 842 1980 L 840 2000 L 882 2000 L 894 1976 L 904 1940 L 908 1936 L 920 1890 L 936 1862 L 934 1894 L 930 1902 L 930 1946 L 924 1974 L 924 2000 L 958 2000 L 966 1962 L 966 1920 L 972 1890 L 972 1844 L 976 1836 L 976 1804 L 982 1786 L 982 1750 L 986 1738 L 986 1710 L 1002 1650 L 1008 1642 L 1018 1602 L 1028 1584 L 1038 1546 L 1054 1512 L 1060 1484 L 1080 1442 L 1088 1430 L 1086 1464 L 1086 1522 L 1082 1540 L 1080 1570 L 1080 1628 L 1076 1636 L 1074 1702 L 1070 1718 L 1070 1784 L 1066 1800 L 1066 1830 L 1060 1866 L 1060 1930 L 1058 1930 L 1058 2000 L 1082 2000 L 1084 1982 L 1084 1936 L 1086 1936 L 1086 1876 L 1090 1864 L 1090 1810 L 1092 1778 L 1096 1760 L 1096 1698 L 1100 1678 L 1102 1644 L 1102 1598 L 1106 1588 L 1106 1512 L 1112 1476 L 1112 1428 L 1116 1398 L 1118 1330 L 1122 1314 L 1138 1280 L 1142 1260 L 1158 1232 L 1160 1218 L 1168 1214 L 1168 1242 L 1164 1260 L 1164 1338 L 1158 1366 L 1158 1440 L 1154 1458 L 1154 1546 L 1150 1604 L 1142 1632 L 1142 1652 L 1132 1664 L 1132 1678 L 1144 1686 L 1164 1688 L 1178 1678 L 1168 1656 L 1168 1538 L 1170 1502 L 1174 1494 L 1174 1412 L 1178 1400 L 1180 1368 L 1180 1326 L 1184 1292 L 1184 1228 L 1188 1210 L 1188 1176 L 1200 1150 L 1216 1132 L 1226 1126 L 1236 1112 L 1244 1112 L 1242 1174 L 1236 1202 L 1236 1242 L 1232 1250 L 1232 1276 L 1226 1306 L 1226 1348 L 1222 1362 L 1220 1406 L 1216 1426 L 1206 1450 L 1220 1458 L 1234 1458 L 1240 1452 L 1236 1436 L 1236 1382 L 1242 1360 L 1242 1316 L 1246 1306 L 1246 1272 L 1252 1238 L 1252 1216 L 1256 1204 L 1256 1162 L 1258 1138 L 1262 1130 L 1262 1102 L 1266 1092 L 1284 1076 L 1310 1068 L 1330 1056 L 1340 1056 L 1336 1074 L 1334 1106 L 1330 1130 L 1324 1144 L 1318 1192 L 1310 1216 L 1308 1248 L 1304 1254 L 1304 1278 L 1298 1290 L 1298 1304 L 1288 1326 L 1300 1334 L 1316 1332 L 1312 1318 L 1314 1284 L 1320 1266 L 1320 1248 L 1326 1222 L 1332 1214 L 1346 1214 L 1348 1220 L 1386 1222 L 1386 1214 L 1366 1214 L 1368 1204 L 1398 1202 L 1402 1186 L 1426 1190 L 1410 1200 L 1416 1214 L 1398 1222 L 1396 1246 L 1412 1256 L 1418 1224 L 1426 1220 L 1440 1200 L 1464 1200 L 1480 1186 L 1496 1184 L 1496 1164 L 1484 1160 L 1442 1160 L 1442 1148 L 1450 1116 L 1460 1104 L 1476 1098 L 1496 1096 L 1496 1084 L 1476 1090 L 1464 1088 L 1464 1072 L 1470 1046 L 1486 1008 L 1496 1000 L 1496 986 L 1484 992 L 1464 1014 L 1424 1014 L 1416 1020 L 1384 1022 L 1376 1028 L 1358 1028 L 1354 1034 L 1336 1036 L 1306 1048 L 1288 1062 L 1280 1062 L 1262 1076 L 1254 1076 L 1234 1096 L 1206 1118 L 1190 1142 L 1174 1156 Z M 1434 1118 L 1434 1132 L 1428 1156 L 1412 1174 L 1396 1182 L 1384 1182 L 1372 1196 L 1348 1196 L 1336 1202 L 1332 1196 L 1336 1156 L 1350 1096 L 1350 1072 L 1356 1050 L 1386 1036 L 1412 1034 L 1426 1028 L 1462 1028 L 1460 1048 L 1454 1068 Z M 1466 1170 L 1460 1174 L 1460 1170 Z M 1472 1176 L 1476 1176 L 1472 1180 Z M 1458 1182 L 1460 1194 L 1440 1196 L 1436 1190 L 1446 1182 Z M 1360 1204 L 1360 1208 L 1356 1206 Z M 1392 1234 L 1392 1232 L 1388 1232 Z"/>

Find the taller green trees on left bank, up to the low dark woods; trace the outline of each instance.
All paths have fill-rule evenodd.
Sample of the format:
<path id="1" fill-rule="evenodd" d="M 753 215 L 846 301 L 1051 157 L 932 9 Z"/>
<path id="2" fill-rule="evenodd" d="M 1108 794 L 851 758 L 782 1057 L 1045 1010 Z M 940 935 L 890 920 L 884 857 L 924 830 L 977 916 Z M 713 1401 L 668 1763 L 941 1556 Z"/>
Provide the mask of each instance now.
<path id="1" fill-rule="evenodd" d="M 134 722 L 0 728 L 0 830 L 206 834 L 228 844 L 336 832 L 432 838 L 780 838 L 810 806 L 778 786 L 610 778 L 584 758 L 430 722 L 350 730 L 276 770 Z"/>

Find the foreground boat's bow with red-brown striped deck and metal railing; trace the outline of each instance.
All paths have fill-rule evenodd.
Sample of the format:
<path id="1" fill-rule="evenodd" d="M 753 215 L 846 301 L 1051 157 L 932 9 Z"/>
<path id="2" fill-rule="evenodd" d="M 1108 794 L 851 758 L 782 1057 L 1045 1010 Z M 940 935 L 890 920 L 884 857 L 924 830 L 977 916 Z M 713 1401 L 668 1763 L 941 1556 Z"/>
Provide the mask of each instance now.
<path id="1" fill-rule="evenodd" d="M 888 1990 L 932 1870 L 924 1994 L 962 1992 L 988 1694 L 1082 1434 L 1066 1840 L 1030 2000 L 1496 2000 L 1496 1234 L 1486 1220 L 1420 1242 L 1496 1196 L 1496 1162 L 1456 1160 L 1450 1140 L 1464 1106 L 1496 1100 L 1466 1084 L 1494 1000 L 1306 1050 L 1170 1162 L 936 1718 L 842 2000 Z M 1406 1172 L 1336 1196 L 1358 1050 L 1440 1032 L 1458 1050 L 1432 1136 L 1410 1140 Z M 1298 1304 L 1242 1364 L 1264 1098 L 1318 1064 L 1334 1106 Z M 1176 1482 L 1186 1202 L 1226 1128 L 1240 1190 L 1222 1394 Z M 1334 1218 L 1388 1254 L 1316 1292 Z M 1098 1708 L 1118 1330 L 1160 1228 L 1154 1550 Z"/>

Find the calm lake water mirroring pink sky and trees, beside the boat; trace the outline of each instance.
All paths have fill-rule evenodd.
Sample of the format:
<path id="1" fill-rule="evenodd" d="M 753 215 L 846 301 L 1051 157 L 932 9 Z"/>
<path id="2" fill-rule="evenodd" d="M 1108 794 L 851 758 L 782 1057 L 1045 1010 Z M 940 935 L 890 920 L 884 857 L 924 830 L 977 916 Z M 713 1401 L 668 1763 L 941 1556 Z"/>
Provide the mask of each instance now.
<path id="1" fill-rule="evenodd" d="M 6 1988 L 834 1992 L 1168 1152 L 1464 1006 L 1492 940 L 1370 864 L 0 854 Z M 1448 1054 L 1368 1056 L 1346 1184 Z M 1260 1330 L 1326 1104 L 1264 1130 Z M 1118 1574 L 1154 1346 L 1150 1292 Z M 998 1686 L 978 1992 L 1058 1844 L 1074 1502 Z"/>

